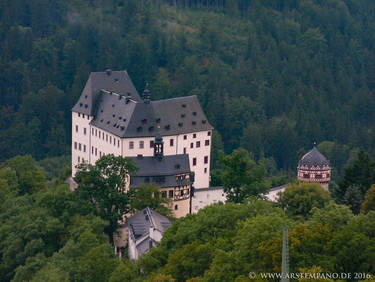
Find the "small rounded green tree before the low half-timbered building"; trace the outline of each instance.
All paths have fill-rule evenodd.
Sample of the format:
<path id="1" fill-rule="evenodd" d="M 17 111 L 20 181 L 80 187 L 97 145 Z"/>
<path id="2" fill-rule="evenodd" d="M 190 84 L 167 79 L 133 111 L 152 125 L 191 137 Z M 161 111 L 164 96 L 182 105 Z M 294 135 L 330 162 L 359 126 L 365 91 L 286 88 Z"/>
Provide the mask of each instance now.
<path id="1" fill-rule="evenodd" d="M 144 184 L 136 189 L 131 199 L 130 206 L 133 211 L 140 211 L 149 207 L 162 215 L 173 217 L 170 203 L 170 199 L 161 196 L 158 186 L 154 184 Z"/>

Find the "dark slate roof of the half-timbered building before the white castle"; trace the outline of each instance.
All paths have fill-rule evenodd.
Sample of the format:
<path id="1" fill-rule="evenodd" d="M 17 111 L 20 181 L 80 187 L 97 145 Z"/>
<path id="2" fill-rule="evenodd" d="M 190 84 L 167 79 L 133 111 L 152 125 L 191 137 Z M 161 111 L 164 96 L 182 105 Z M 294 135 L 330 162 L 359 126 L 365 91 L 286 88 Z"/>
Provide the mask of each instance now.
<path id="1" fill-rule="evenodd" d="M 137 188 L 145 184 L 146 178 L 149 178 L 150 183 L 155 183 L 160 187 L 176 187 L 189 185 L 190 180 L 177 180 L 176 175 L 190 173 L 189 156 L 184 155 L 171 155 L 163 156 L 158 159 L 157 157 L 133 157 L 133 161 L 139 170 L 130 174 L 130 187 Z M 164 177 L 162 182 L 157 179 Z"/>

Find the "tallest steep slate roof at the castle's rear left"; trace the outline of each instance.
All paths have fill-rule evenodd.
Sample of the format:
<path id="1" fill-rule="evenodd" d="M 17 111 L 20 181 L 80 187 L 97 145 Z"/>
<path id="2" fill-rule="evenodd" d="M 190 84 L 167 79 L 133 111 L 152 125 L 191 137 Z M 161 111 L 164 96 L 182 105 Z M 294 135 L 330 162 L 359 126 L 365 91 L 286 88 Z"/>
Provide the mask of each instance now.
<path id="1" fill-rule="evenodd" d="M 92 72 L 72 111 L 94 115 L 101 90 L 115 92 L 122 96 L 131 96 L 136 101 L 141 100 L 126 71 Z"/>

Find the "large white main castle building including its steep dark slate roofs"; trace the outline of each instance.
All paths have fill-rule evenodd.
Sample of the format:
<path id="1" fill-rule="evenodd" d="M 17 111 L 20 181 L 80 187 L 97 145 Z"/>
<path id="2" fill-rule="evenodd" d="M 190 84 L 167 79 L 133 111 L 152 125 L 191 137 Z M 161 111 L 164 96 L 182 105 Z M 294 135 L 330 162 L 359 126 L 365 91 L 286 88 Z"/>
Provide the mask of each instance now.
<path id="1" fill-rule="evenodd" d="M 134 157 L 141 166 L 141 175 L 133 175 L 130 186 L 139 185 L 141 179 L 147 181 L 147 177 L 154 179 L 166 163 L 185 167 L 188 161 L 189 170 L 179 175 L 169 167 L 172 174 L 168 177 L 185 175 L 187 179 L 193 173 L 194 187 L 207 188 L 212 130 L 196 96 L 152 101 L 147 89 L 142 98 L 139 96 L 126 71 L 93 72 L 72 109 L 72 176 L 79 163 L 95 164 L 103 155 L 113 154 Z M 158 134 L 163 143 L 161 161 L 156 161 L 155 155 Z M 152 173 L 145 175 L 142 166 L 151 163 L 155 167 L 147 168 Z"/>

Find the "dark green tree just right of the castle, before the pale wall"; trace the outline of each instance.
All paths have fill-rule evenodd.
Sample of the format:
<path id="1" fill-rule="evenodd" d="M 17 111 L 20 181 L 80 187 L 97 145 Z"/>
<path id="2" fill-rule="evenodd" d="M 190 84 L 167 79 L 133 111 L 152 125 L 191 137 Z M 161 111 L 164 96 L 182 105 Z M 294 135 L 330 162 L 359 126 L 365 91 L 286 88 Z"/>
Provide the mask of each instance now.
<path id="1" fill-rule="evenodd" d="M 221 181 L 229 201 L 241 203 L 249 196 L 259 196 L 266 191 L 265 168 L 257 165 L 244 149 L 234 150 L 231 155 L 220 157 Z"/>

